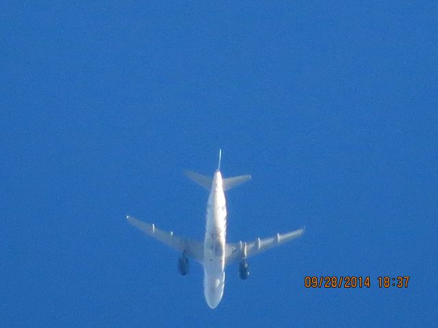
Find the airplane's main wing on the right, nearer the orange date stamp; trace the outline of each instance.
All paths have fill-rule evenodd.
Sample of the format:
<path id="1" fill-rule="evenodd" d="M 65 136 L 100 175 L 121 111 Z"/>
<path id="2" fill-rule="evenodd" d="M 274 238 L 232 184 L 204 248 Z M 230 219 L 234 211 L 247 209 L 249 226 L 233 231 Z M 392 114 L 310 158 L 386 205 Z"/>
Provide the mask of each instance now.
<path id="1" fill-rule="evenodd" d="M 270 238 L 257 238 L 255 241 L 227 244 L 225 249 L 226 259 L 225 263 L 231 264 L 242 260 L 243 258 L 249 258 L 256 254 L 266 251 L 272 247 L 276 247 L 287 241 L 292 241 L 304 234 L 305 229 L 295 230 L 291 232 L 286 232 L 285 234 L 276 234 Z"/>

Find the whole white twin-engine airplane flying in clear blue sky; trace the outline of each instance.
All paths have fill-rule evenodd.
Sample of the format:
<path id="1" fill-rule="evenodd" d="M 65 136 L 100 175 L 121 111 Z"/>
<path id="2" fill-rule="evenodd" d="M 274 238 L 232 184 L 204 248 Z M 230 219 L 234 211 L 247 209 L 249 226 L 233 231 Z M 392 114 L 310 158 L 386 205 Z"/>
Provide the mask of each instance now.
<path id="1" fill-rule="evenodd" d="M 239 277 L 245 280 L 249 277 L 247 258 L 287 241 L 292 241 L 292 239 L 298 238 L 305 232 L 304 229 L 299 229 L 286 232 L 285 234 L 277 233 L 270 238 L 257 238 L 255 241 L 250 242 L 227 243 L 227 202 L 225 200 L 225 191 L 250 180 L 251 176 L 223 178 L 220 172 L 221 159 L 222 150 L 219 150 L 218 168 L 213 178 L 195 172 L 185 172 L 188 178 L 191 178 L 194 182 L 210 191 L 207 201 L 204 241 L 194 241 L 179 237 L 172 231 L 160 230 L 155 227 L 155 224 L 140 221 L 130 215 L 126 216 L 132 226 L 181 253 L 181 258 L 178 260 L 180 275 L 184 276 L 189 272 L 188 257 L 203 265 L 204 296 L 207 305 L 211 309 L 218 306 L 224 294 L 225 267 L 227 265 L 240 261 Z"/>

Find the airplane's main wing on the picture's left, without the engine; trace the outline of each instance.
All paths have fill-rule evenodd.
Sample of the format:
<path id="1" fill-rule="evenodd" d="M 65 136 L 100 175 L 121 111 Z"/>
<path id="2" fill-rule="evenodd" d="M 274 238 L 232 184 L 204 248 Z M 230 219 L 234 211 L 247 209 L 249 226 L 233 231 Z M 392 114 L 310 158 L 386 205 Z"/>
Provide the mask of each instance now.
<path id="1" fill-rule="evenodd" d="M 152 236 L 153 238 L 157 239 L 157 241 L 161 241 L 180 253 L 185 252 L 187 256 L 194 258 L 194 260 L 198 262 L 203 262 L 204 244 L 201 241 L 192 241 L 188 238 L 175 236 L 172 231 L 166 232 L 160 230 L 155 227 L 155 224 L 140 221 L 139 219 L 131 217 L 130 215 L 127 215 L 126 218 L 132 226 L 142 230 L 142 232 Z"/>

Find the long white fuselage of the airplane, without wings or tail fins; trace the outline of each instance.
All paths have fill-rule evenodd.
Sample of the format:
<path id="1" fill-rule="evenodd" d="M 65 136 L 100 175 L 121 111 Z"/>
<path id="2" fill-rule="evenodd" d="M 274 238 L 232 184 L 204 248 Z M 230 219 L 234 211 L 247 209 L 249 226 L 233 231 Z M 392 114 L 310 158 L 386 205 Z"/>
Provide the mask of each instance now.
<path id="1" fill-rule="evenodd" d="M 204 295 L 210 308 L 218 306 L 225 286 L 225 239 L 227 235 L 227 202 L 222 174 L 217 170 L 207 202 L 204 238 Z"/>

